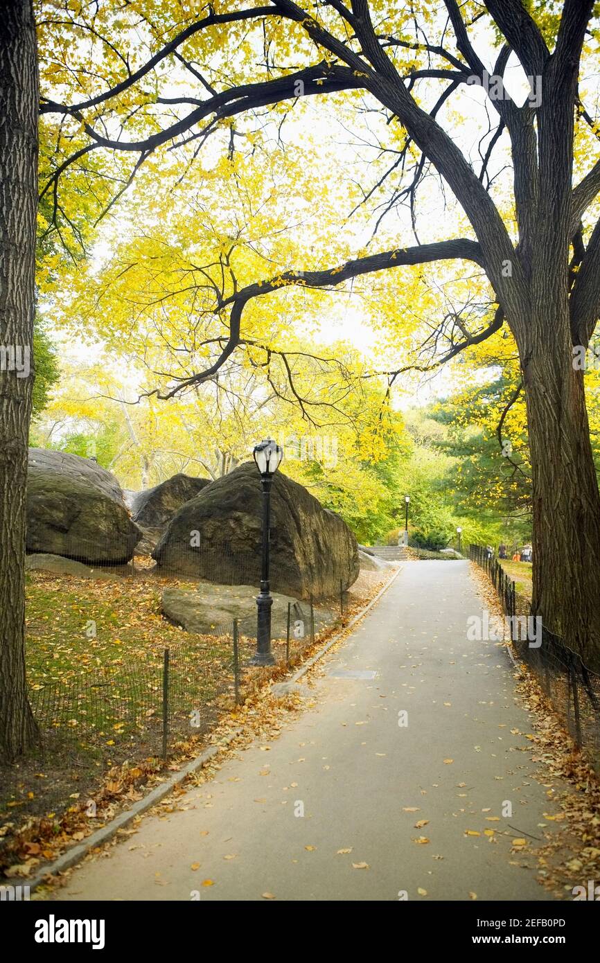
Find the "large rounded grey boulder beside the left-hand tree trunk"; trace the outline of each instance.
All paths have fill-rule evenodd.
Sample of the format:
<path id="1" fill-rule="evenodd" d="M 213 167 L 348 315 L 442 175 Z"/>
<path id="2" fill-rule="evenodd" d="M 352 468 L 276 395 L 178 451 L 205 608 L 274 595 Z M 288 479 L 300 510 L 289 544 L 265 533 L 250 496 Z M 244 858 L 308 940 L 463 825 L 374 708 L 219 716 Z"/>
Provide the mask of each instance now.
<path id="1" fill-rule="evenodd" d="M 110 472 L 79 455 L 30 448 L 28 552 L 117 564 L 132 558 L 141 535 Z"/>

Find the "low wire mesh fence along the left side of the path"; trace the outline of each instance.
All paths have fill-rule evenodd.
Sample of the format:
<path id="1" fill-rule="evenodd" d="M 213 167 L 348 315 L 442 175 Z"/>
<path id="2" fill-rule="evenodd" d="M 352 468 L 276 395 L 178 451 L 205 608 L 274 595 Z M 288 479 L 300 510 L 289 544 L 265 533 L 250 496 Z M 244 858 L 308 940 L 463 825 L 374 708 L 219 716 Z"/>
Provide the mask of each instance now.
<path id="1" fill-rule="evenodd" d="M 274 665 L 294 664 L 306 647 L 342 624 L 345 602 L 342 592 L 337 610 L 311 600 L 274 605 Z M 80 659 L 78 668 L 65 675 L 51 652 L 48 664 L 33 674 L 38 681 L 30 684 L 30 702 L 48 752 L 63 744 L 115 755 L 119 747 L 127 752 L 135 742 L 144 755 L 167 758 L 176 742 L 205 732 L 272 671 L 252 663 L 256 614 L 202 632 L 181 631 L 168 646 L 134 646 L 134 652 L 113 638 L 118 618 L 106 624 L 105 606 L 80 603 L 78 618 L 81 638 L 86 637 L 83 665 Z"/>

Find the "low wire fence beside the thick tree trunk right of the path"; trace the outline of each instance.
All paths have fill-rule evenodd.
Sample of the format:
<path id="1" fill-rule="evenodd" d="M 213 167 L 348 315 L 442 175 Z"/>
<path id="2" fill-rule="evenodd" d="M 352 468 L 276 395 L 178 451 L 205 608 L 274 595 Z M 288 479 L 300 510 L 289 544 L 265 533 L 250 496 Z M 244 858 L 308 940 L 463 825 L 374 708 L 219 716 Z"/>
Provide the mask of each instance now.
<path id="1" fill-rule="evenodd" d="M 535 678 L 574 742 L 586 748 L 600 771 L 600 675 L 584 663 L 564 638 L 532 615 L 531 599 L 516 591 L 501 562 L 481 545 L 471 545 L 469 558 L 487 573 L 508 617 L 512 645 Z"/>

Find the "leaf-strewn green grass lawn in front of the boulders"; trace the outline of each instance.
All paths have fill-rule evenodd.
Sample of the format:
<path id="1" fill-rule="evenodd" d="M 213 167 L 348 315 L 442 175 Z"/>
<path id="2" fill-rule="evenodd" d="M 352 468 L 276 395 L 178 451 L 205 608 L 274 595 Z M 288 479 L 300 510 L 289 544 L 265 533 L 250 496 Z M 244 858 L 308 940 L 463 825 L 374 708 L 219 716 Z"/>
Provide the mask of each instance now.
<path id="1" fill-rule="evenodd" d="M 198 710 L 204 714 L 209 703 L 229 694 L 230 632 L 199 636 L 171 625 L 161 614 L 162 583 L 155 578 L 94 582 L 31 574 L 27 671 L 43 728 L 65 737 L 70 733 L 86 750 L 159 728 L 166 648 L 171 721 L 189 719 Z M 249 646 L 241 639 L 242 657 Z M 187 725 L 189 729 L 189 721 Z"/>

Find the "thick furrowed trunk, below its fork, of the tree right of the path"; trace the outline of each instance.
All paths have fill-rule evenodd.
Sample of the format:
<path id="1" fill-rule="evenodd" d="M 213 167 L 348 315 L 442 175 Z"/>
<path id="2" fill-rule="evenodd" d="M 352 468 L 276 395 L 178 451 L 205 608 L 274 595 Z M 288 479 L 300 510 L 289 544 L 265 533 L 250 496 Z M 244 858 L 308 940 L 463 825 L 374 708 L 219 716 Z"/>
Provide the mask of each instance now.
<path id="1" fill-rule="evenodd" d="M 600 669 L 600 494 L 584 375 L 573 368 L 566 317 L 548 310 L 532 342 L 524 374 L 533 468 L 533 611 L 590 668 Z"/>

